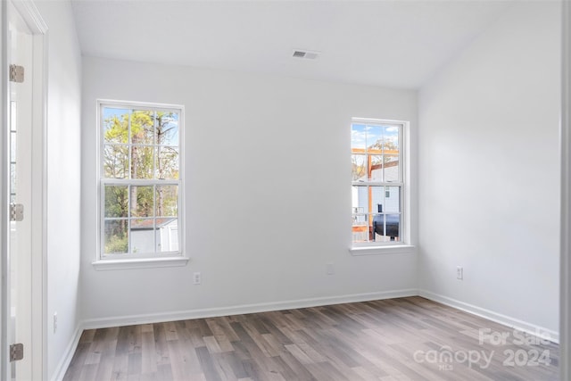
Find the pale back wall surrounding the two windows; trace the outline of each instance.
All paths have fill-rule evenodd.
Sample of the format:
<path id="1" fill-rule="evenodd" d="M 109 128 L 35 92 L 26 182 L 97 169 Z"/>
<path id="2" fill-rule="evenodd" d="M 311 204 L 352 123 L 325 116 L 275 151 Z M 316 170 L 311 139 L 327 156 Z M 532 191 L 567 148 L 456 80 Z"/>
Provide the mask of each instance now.
<path id="1" fill-rule="evenodd" d="M 416 92 L 90 57 L 83 64 L 81 282 L 89 324 L 415 292 L 415 253 L 355 257 L 348 248 L 351 118 L 410 120 L 416 130 Z M 93 268 L 97 98 L 186 107 L 186 267 Z M 193 286 L 194 271 L 201 286 Z"/>

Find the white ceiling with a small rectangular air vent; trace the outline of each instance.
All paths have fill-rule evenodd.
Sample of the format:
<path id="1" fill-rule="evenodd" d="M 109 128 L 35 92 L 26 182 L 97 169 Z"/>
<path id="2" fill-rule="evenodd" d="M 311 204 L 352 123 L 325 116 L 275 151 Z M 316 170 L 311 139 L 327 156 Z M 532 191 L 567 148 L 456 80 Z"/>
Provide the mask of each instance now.
<path id="1" fill-rule="evenodd" d="M 72 0 L 83 54 L 418 88 L 512 2 Z M 315 61 L 294 49 L 321 52 Z"/>

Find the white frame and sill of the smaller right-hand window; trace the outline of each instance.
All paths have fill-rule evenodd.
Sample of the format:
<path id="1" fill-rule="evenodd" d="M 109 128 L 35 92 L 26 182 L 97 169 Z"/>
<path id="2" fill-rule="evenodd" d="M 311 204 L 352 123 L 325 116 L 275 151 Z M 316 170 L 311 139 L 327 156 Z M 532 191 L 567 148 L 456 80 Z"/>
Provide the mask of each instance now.
<path id="1" fill-rule="evenodd" d="M 415 246 L 411 244 L 410 234 L 410 121 L 407 120 L 388 120 L 380 118 L 352 118 L 351 126 L 354 123 L 376 124 L 376 125 L 394 125 L 400 128 L 399 133 L 399 162 L 401 162 L 401 178 L 399 182 L 387 183 L 383 182 L 354 182 L 351 186 L 400 186 L 401 187 L 401 241 L 389 242 L 352 242 L 349 245 L 349 252 L 352 255 L 375 255 L 388 253 L 410 253 L 414 251 Z M 350 145 L 352 146 L 352 145 Z M 352 154 L 352 152 L 351 152 Z"/>

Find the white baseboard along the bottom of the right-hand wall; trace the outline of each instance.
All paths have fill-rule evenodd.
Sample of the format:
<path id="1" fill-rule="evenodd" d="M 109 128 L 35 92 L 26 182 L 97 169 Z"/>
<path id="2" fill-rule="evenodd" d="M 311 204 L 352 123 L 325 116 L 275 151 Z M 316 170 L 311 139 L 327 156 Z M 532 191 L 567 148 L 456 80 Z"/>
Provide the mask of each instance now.
<path id="1" fill-rule="evenodd" d="M 531 335 L 541 335 L 542 337 L 549 339 L 551 342 L 559 344 L 559 332 L 553 331 L 552 329 L 540 327 L 520 319 L 511 318 L 509 316 L 502 315 L 501 313 L 486 310 L 466 302 L 460 302 L 456 299 L 449 298 L 448 296 L 434 294 L 430 291 L 418 290 L 418 295 L 426 299 L 430 299 L 431 301 L 440 302 L 447 306 L 454 307 L 460 311 L 465 311 L 481 318 L 492 320 L 496 323 L 503 324 L 504 326 L 516 328 Z"/>

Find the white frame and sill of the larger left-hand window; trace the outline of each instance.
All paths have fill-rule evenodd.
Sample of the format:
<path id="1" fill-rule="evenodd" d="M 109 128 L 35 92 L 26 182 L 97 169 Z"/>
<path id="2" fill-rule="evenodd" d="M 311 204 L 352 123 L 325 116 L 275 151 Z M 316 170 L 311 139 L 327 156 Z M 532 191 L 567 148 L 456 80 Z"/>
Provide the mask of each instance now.
<path id="1" fill-rule="evenodd" d="M 145 178 L 103 178 L 103 108 L 117 108 L 128 110 L 142 110 L 153 112 L 178 112 L 178 179 L 145 179 Z M 182 104 L 161 104 L 152 102 L 121 101 L 112 99 L 97 99 L 96 101 L 96 128 L 97 128 L 97 239 L 95 269 L 136 269 L 158 268 L 170 266 L 184 266 L 190 260 L 186 256 L 186 235 L 183 234 L 185 224 L 185 176 L 184 176 L 184 145 L 185 145 L 185 106 Z M 103 253 L 103 226 L 104 226 L 104 192 L 106 185 L 178 185 L 178 244 L 177 252 L 167 253 Z M 156 216 L 154 216 L 156 218 Z M 129 244 L 130 247 L 130 244 Z"/>

